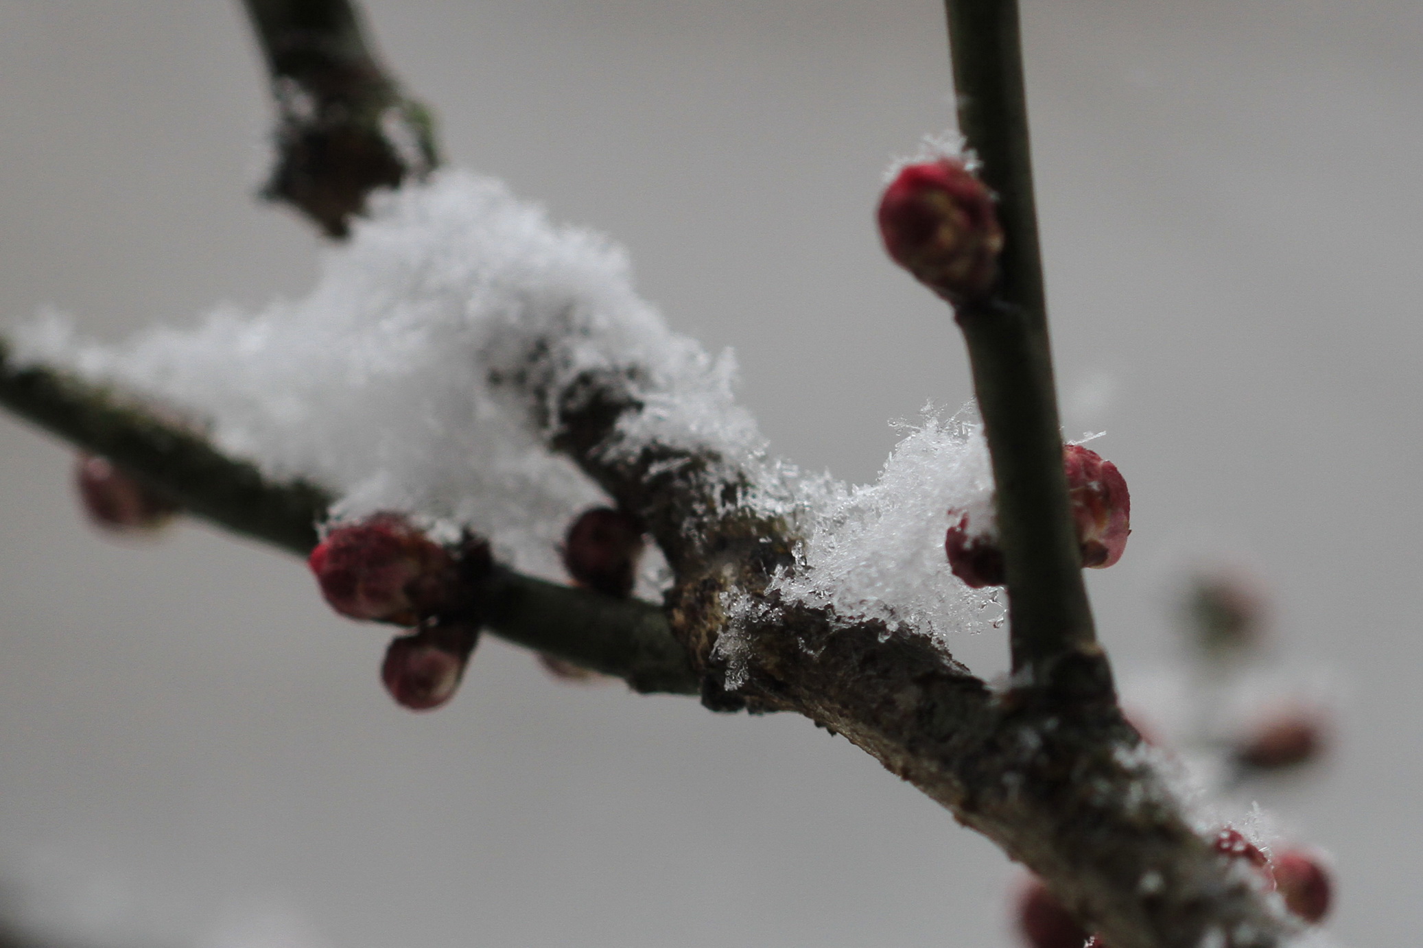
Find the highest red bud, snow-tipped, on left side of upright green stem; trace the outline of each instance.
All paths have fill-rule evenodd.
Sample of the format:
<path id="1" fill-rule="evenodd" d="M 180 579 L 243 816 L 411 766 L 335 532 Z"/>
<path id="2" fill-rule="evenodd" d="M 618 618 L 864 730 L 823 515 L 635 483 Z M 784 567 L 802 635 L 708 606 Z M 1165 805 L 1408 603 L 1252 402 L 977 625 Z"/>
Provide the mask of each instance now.
<path id="1" fill-rule="evenodd" d="M 956 158 L 906 165 L 879 199 L 879 236 L 894 262 L 951 302 L 998 279 L 1003 229 L 993 195 Z"/>

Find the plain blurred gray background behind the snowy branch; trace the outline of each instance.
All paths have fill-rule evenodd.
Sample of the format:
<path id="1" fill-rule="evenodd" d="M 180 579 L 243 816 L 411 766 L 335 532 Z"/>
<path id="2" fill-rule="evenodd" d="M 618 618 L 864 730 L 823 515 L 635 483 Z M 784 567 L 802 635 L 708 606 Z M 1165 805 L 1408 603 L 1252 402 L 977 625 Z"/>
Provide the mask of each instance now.
<path id="1" fill-rule="evenodd" d="M 734 346 L 776 450 L 867 480 L 969 394 L 869 223 L 951 121 L 935 0 L 373 1 L 457 164 L 625 241 Z M 1118 665 L 1170 659 L 1187 552 L 1257 564 L 1342 739 L 1266 789 L 1336 860 L 1336 931 L 1416 941 L 1423 7 L 1027 0 L 1070 431 L 1131 484 L 1091 576 Z M 101 336 L 305 290 L 250 199 L 269 122 L 232 3 L 0 0 L 0 317 Z M 481 646 L 418 717 L 299 564 L 185 525 L 112 544 L 70 453 L 0 421 L 0 870 L 98 945 L 1006 945 L 1015 870 L 844 740 L 564 688 Z M 965 636 L 975 668 L 1003 643 Z"/>

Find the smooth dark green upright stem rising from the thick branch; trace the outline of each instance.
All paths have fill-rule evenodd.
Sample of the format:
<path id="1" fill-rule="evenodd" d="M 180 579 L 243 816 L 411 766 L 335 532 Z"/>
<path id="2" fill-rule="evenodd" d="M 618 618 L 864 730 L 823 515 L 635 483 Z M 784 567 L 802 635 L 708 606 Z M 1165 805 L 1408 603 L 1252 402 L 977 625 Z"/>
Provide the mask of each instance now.
<path id="1" fill-rule="evenodd" d="M 958 313 L 983 413 L 1007 571 L 1013 670 L 1043 683 L 1097 652 L 1063 475 L 1016 0 L 946 0 L 959 130 L 998 195 L 995 295 Z M 1097 676 L 1107 682 L 1110 676 Z"/>

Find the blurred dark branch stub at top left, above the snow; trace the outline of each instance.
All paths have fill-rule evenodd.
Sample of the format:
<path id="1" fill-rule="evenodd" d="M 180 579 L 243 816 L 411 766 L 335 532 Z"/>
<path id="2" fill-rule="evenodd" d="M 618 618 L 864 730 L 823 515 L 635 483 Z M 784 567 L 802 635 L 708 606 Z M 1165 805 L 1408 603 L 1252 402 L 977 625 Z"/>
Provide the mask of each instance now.
<path id="1" fill-rule="evenodd" d="M 381 68 L 347 0 L 243 3 L 280 112 L 265 195 L 343 238 L 371 191 L 440 164 L 434 120 Z"/>

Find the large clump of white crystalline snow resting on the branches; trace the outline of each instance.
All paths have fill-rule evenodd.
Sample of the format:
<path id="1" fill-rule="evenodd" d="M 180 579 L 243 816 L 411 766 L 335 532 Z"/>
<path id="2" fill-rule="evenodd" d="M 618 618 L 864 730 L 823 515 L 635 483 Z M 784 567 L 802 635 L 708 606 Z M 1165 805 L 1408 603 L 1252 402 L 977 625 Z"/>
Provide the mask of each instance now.
<path id="1" fill-rule="evenodd" d="M 758 512 L 803 532 L 797 568 L 776 581 L 783 598 L 936 635 L 1000 615 L 943 552 L 949 507 L 992 522 L 972 417 L 906 427 L 874 485 L 801 478 L 766 457 L 733 399 L 729 352 L 673 333 L 633 290 L 619 246 L 549 222 L 490 178 L 447 171 L 377 196 L 305 299 L 218 309 L 118 347 L 47 317 L 17 343 L 21 360 L 202 418 L 221 450 L 334 491 L 337 517 L 398 510 L 468 525 L 511 565 L 554 578 L 568 524 L 606 498 L 548 450 L 539 399 L 582 373 L 618 373 L 645 406 L 625 418 L 622 450 L 720 457 L 714 474 L 743 478 Z"/>

